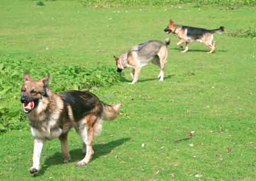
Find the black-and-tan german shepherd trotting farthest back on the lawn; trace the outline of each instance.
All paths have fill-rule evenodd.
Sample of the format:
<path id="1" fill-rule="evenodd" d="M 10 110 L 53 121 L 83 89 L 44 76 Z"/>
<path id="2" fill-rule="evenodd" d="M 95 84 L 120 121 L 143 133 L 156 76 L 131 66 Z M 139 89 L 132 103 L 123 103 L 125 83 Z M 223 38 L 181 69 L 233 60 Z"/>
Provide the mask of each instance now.
<path id="1" fill-rule="evenodd" d="M 175 24 L 174 21 L 171 19 L 169 20 L 169 24 L 167 28 L 164 29 L 166 33 L 173 33 L 175 34 L 180 41 L 177 43 L 179 48 L 182 48 L 181 44 L 185 43 L 185 49 L 181 51 L 185 53 L 188 51 L 188 43 L 191 41 L 199 41 L 203 42 L 206 46 L 208 46 L 210 51 L 208 53 L 214 53 L 216 48 L 216 41 L 214 41 L 214 33 L 221 33 L 224 32 L 224 27 L 220 27 L 219 29 L 215 30 L 206 30 L 202 28 L 195 28 L 195 27 L 187 27 L 180 24 Z"/>

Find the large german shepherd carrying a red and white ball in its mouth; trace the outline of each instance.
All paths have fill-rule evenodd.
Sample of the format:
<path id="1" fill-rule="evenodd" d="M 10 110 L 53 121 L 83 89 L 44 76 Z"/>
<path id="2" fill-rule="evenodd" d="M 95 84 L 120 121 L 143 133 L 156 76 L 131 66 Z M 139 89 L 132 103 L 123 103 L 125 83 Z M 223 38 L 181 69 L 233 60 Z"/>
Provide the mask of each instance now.
<path id="1" fill-rule="evenodd" d="M 58 138 L 64 162 L 71 159 L 68 150 L 71 127 L 81 135 L 82 151 L 86 153 L 76 166 L 88 164 L 93 158 L 93 139 L 101 131 L 102 119 L 115 119 L 121 107 L 120 103 L 107 105 L 88 91 L 54 93 L 49 88 L 49 76 L 34 81 L 25 73 L 20 97 L 34 138 L 33 166 L 29 170 L 33 174 L 40 169 L 40 155 L 46 140 Z"/>

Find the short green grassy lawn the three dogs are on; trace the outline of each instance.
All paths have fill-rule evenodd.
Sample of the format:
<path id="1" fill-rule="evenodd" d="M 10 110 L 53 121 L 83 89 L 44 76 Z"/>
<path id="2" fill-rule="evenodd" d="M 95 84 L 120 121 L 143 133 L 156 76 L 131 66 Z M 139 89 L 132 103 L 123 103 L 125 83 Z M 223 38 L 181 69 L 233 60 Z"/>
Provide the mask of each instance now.
<path id="1" fill-rule="evenodd" d="M 33 151 L 29 126 L 1 134 L 0 180 L 256 179 L 255 39 L 215 34 L 215 54 L 206 54 L 208 48 L 200 43 L 190 43 L 188 53 L 182 54 L 176 47 L 178 38 L 163 32 L 170 18 L 207 29 L 255 28 L 256 7 L 45 4 L 1 1 L 0 58 L 33 57 L 59 66 L 115 66 L 113 55 L 146 40 L 170 37 L 165 80 L 157 80 L 159 68 L 150 64 L 135 85 L 128 84 L 132 79 L 127 69 L 122 83 L 93 90 L 104 102 L 122 101 L 123 108 L 115 121 L 104 122 L 95 139 L 94 159 L 82 168 L 75 167 L 83 158 L 75 131 L 69 134 L 73 161 L 63 164 L 59 141 L 49 141 L 35 177 L 28 171 Z M 195 131 L 193 138 L 175 142 L 190 131 Z"/>

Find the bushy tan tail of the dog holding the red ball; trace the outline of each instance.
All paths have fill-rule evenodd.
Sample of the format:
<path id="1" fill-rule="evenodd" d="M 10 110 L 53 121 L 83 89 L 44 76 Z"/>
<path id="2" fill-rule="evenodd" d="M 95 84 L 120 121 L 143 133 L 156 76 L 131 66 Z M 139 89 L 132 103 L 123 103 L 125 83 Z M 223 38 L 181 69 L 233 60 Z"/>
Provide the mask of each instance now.
<path id="1" fill-rule="evenodd" d="M 114 120 L 119 113 L 122 103 L 107 105 L 103 104 L 103 120 Z"/>

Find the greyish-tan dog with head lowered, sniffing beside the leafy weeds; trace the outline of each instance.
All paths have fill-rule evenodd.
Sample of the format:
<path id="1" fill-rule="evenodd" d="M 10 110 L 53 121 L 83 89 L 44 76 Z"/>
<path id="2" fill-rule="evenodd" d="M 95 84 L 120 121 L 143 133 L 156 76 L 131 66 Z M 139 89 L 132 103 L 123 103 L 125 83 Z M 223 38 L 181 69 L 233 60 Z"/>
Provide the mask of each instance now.
<path id="1" fill-rule="evenodd" d="M 127 53 L 121 54 L 119 57 L 114 56 L 117 71 L 121 72 L 126 67 L 133 68 L 131 72 L 133 82 L 129 84 L 135 84 L 139 79 L 140 69 L 152 62 L 160 67 L 158 79 L 160 78 L 160 81 L 163 81 L 164 65 L 167 63 L 168 56 L 167 45 L 169 43 L 169 38 L 165 39 L 164 43 L 150 40 L 133 46 Z"/>

